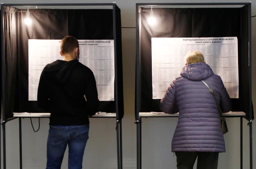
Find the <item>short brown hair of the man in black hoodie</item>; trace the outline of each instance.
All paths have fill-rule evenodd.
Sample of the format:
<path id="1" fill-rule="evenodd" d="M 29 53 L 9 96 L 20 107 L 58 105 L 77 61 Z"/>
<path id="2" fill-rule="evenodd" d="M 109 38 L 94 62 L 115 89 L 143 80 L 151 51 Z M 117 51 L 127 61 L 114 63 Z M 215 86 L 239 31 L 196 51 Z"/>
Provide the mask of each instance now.
<path id="1" fill-rule="evenodd" d="M 76 48 L 79 48 L 79 43 L 73 36 L 65 36 L 60 42 L 60 51 L 62 54 L 70 53 Z"/>

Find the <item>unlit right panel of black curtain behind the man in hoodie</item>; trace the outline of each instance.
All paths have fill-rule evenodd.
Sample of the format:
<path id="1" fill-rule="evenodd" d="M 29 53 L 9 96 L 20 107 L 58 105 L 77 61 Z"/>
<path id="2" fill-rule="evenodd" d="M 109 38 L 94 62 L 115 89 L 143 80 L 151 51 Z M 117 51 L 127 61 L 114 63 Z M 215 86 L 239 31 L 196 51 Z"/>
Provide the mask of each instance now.
<path id="1" fill-rule="evenodd" d="M 77 39 L 114 39 L 113 10 L 68 10 L 68 34 Z M 115 101 L 100 101 L 99 110 L 116 112 Z"/>

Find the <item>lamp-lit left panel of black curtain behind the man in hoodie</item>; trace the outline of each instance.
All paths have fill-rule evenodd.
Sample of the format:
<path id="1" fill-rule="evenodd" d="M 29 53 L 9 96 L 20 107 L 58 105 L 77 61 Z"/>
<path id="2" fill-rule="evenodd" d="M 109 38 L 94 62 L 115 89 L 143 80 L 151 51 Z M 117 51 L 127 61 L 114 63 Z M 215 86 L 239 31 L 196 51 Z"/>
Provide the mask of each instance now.
<path id="1" fill-rule="evenodd" d="M 21 10 L 20 10 L 21 11 Z M 24 11 L 24 10 L 23 10 Z M 30 9 L 31 25 L 23 19 L 26 12 L 19 12 L 19 104 L 16 112 L 43 112 L 36 101 L 28 101 L 28 39 L 62 39 L 68 35 L 68 11 L 65 9 Z"/>

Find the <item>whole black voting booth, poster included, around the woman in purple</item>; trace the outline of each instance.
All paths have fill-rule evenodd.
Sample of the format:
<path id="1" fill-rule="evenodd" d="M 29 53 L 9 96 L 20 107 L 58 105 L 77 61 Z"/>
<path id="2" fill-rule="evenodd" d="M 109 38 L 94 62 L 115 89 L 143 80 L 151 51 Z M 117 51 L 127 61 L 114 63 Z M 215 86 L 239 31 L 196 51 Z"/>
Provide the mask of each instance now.
<path id="1" fill-rule="evenodd" d="M 241 168 L 242 118 L 248 120 L 252 167 L 251 3 L 136 4 L 136 29 L 137 169 L 142 169 L 142 118 L 178 117 L 161 113 L 159 103 L 180 76 L 189 50 L 203 53 L 232 98 L 225 117 L 241 119 Z"/>

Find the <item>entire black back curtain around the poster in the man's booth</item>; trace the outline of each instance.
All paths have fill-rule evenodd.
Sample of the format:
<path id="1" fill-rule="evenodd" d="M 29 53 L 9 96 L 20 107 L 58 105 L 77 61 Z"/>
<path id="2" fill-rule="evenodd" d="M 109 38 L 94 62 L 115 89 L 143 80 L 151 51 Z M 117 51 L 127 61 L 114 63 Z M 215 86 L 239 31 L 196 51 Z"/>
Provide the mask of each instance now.
<path id="1" fill-rule="evenodd" d="M 23 10 L 22 10 L 23 11 Z M 113 10 L 110 9 L 31 9 L 31 26 L 22 23 L 25 12 L 19 12 L 19 73 L 16 84 L 16 112 L 44 112 L 36 101 L 28 101 L 28 39 L 114 39 Z M 8 105 L 9 106 L 9 105 Z M 115 101 L 100 101 L 100 111 L 116 112 Z M 9 115 L 12 117 L 12 115 Z"/>

